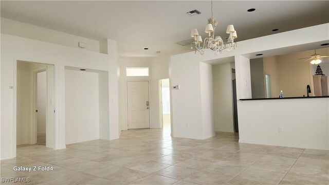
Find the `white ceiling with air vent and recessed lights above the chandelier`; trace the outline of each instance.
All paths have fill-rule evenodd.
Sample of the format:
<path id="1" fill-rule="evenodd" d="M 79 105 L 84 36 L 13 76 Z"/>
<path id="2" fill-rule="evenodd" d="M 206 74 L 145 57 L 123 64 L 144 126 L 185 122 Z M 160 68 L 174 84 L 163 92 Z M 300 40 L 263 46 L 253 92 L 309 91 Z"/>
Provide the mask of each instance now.
<path id="1" fill-rule="evenodd" d="M 247 12 L 250 8 L 256 10 Z M 194 9 L 202 14 L 185 14 Z M 236 41 L 329 22 L 329 1 L 214 1 L 213 9 L 215 35 L 226 38 L 226 27 L 233 24 Z M 175 43 L 191 39 L 192 28 L 205 38 L 210 13 L 210 1 L 1 1 L 1 17 L 94 40 L 113 39 L 125 57 L 191 51 Z"/>

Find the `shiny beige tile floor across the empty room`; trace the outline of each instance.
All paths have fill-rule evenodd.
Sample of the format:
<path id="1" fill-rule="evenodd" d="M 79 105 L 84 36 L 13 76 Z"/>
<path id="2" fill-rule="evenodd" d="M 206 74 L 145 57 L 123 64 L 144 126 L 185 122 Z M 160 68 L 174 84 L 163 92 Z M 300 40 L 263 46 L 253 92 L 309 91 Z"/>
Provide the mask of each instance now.
<path id="1" fill-rule="evenodd" d="M 1 177 L 30 178 L 23 184 L 329 183 L 328 151 L 243 144 L 238 138 L 232 133 L 172 138 L 165 128 L 123 131 L 117 140 L 69 144 L 58 151 L 21 145 L 15 159 L 1 161 Z M 53 171 L 14 172 L 15 165 L 50 165 Z"/>

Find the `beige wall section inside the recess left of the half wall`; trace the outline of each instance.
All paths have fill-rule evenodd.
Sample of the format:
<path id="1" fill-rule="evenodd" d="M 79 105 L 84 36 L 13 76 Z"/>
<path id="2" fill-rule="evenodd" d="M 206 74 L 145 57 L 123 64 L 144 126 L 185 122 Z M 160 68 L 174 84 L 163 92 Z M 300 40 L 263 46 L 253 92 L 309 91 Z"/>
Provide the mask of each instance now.
<path id="1" fill-rule="evenodd" d="M 212 66 L 214 124 L 217 132 L 234 132 L 231 63 Z"/>

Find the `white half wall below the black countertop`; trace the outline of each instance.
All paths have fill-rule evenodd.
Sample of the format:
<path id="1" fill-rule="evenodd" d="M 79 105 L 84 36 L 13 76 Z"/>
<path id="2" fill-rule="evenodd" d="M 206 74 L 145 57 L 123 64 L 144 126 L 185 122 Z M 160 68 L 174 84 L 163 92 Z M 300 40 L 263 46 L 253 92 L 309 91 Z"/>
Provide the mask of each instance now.
<path id="1" fill-rule="evenodd" d="M 329 98 L 240 101 L 239 142 L 328 150 L 328 107 Z"/>

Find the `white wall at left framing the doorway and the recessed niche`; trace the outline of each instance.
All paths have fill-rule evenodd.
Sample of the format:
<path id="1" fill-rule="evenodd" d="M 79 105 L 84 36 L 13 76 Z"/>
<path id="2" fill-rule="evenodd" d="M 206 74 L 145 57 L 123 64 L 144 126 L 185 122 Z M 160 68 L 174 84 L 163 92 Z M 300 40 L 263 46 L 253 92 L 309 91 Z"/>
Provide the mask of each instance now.
<path id="1" fill-rule="evenodd" d="M 3 29 L 3 27 L 2 27 Z M 65 66 L 108 72 L 109 139 L 119 137 L 118 73 L 116 42 L 107 40 L 108 53 L 61 46 L 52 43 L 1 34 L 1 159 L 16 155 L 16 60 L 52 64 L 55 68 L 54 149 L 65 148 Z M 14 86 L 10 89 L 9 86 Z"/>

